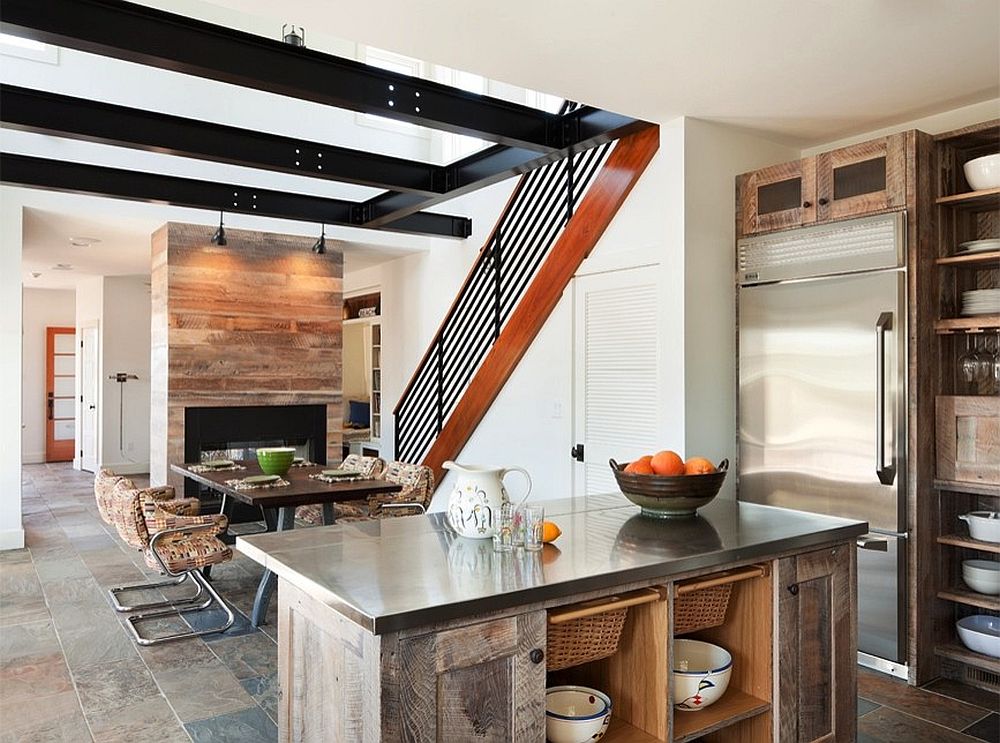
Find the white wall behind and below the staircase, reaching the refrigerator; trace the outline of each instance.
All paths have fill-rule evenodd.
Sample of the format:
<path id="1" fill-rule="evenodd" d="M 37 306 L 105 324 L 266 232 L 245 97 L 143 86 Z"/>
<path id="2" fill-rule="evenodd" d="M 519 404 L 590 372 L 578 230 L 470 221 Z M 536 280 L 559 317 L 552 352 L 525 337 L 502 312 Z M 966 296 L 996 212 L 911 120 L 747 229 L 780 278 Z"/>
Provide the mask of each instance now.
<path id="1" fill-rule="evenodd" d="M 578 272 L 650 266 L 663 287 L 670 320 L 660 339 L 664 448 L 713 459 L 733 456 L 734 178 L 797 155 L 731 127 L 691 119 L 661 125 L 659 152 Z M 477 218 L 480 230 L 492 226 L 498 203 L 493 202 L 491 217 Z M 468 211 L 469 205 L 462 208 Z M 408 381 L 474 257 L 461 248 L 435 250 L 345 277 L 347 290 L 382 286 L 384 354 L 392 356 L 391 370 L 386 362 L 387 407 Z M 570 289 L 458 457 L 526 467 L 535 499 L 566 497 L 573 489 Z M 446 494 L 447 480 L 435 509 L 445 506 Z"/>

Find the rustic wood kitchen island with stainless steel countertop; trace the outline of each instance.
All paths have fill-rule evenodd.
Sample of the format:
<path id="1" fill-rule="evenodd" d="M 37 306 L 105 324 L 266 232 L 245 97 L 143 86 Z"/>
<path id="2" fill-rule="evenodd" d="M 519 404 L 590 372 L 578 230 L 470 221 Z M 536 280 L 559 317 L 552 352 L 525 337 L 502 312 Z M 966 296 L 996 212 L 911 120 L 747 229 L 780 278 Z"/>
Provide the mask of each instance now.
<path id="1" fill-rule="evenodd" d="M 854 739 L 864 522 L 721 500 L 655 520 L 617 494 L 545 505 L 563 535 L 535 553 L 495 553 L 443 514 L 240 537 L 279 578 L 280 740 L 543 741 L 558 683 L 611 696 L 612 743 Z M 687 624 L 719 586 L 724 620 Z M 554 617 L 630 604 L 616 652 L 547 670 Z M 670 703 L 681 632 L 733 656 L 726 694 L 694 712 Z"/>

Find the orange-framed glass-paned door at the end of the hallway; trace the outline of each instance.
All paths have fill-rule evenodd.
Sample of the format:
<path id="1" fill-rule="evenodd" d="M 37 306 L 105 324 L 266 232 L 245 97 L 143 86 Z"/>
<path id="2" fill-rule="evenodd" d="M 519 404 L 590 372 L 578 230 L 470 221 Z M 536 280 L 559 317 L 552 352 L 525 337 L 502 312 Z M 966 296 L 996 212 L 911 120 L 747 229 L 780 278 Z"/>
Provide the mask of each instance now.
<path id="1" fill-rule="evenodd" d="M 76 443 L 76 328 L 45 329 L 45 461 L 69 462 Z"/>

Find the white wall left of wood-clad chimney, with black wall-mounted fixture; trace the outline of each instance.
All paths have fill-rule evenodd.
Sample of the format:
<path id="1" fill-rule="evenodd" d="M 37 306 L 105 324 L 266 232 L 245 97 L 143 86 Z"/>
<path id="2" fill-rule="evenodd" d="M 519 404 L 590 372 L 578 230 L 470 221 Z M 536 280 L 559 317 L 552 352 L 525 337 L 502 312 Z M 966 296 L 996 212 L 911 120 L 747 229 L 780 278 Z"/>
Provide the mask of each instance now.
<path id="1" fill-rule="evenodd" d="M 123 474 L 149 471 L 152 310 L 148 281 L 145 276 L 97 276 L 82 280 L 76 291 L 77 334 L 82 336 L 84 327 L 98 329 L 98 466 Z M 135 374 L 139 379 L 131 379 L 120 388 L 117 382 L 108 379 L 117 372 Z M 78 368 L 78 391 L 80 382 Z M 124 426 L 119 442 L 122 393 Z M 77 420 L 81 420 L 79 412 Z M 77 451 L 81 435 L 77 426 Z M 74 466 L 79 468 L 79 460 L 74 461 Z"/>

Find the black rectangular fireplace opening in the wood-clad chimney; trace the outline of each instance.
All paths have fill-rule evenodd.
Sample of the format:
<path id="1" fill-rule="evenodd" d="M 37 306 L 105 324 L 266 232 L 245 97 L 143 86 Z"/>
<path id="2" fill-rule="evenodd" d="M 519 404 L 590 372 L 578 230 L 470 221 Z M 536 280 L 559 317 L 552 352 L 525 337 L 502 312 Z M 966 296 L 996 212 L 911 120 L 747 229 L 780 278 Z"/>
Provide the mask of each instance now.
<path id="1" fill-rule="evenodd" d="M 184 461 L 254 459 L 257 447 L 294 446 L 299 456 L 326 464 L 326 420 L 326 405 L 188 407 L 184 409 Z M 217 494 L 202 492 L 189 479 L 184 481 L 184 494 L 205 501 L 206 511 L 218 504 Z M 260 518 L 259 513 L 250 516 Z"/>

